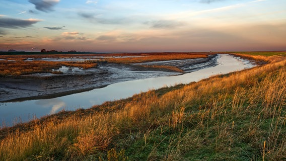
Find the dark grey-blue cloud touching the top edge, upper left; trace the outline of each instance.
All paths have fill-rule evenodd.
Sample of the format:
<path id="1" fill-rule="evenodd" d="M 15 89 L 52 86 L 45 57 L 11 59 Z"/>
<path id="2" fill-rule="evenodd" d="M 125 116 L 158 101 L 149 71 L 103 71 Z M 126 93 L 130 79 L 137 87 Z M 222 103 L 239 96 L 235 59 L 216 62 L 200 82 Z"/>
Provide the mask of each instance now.
<path id="1" fill-rule="evenodd" d="M 54 11 L 53 7 L 59 3 L 59 0 L 29 0 L 29 2 L 39 11 L 50 12 Z"/>

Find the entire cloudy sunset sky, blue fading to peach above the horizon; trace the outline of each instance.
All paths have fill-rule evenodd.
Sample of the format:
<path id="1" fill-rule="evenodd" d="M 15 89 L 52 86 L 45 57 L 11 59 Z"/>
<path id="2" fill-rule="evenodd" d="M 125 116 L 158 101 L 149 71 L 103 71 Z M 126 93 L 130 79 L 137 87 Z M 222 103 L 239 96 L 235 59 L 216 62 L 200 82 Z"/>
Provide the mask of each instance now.
<path id="1" fill-rule="evenodd" d="M 286 50 L 285 0 L 0 3 L 0 51 Z"/>

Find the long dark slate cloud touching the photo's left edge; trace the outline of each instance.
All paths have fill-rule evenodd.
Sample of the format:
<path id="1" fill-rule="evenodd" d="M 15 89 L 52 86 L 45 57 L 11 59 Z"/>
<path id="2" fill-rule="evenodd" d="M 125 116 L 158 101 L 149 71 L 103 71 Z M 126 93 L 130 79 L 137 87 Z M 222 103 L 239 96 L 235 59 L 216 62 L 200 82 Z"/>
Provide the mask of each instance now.
<path id="1" fill-rule="evenodd" d="M 12 28 L 12 29 L 16 29 L 19 27 L 26 28 L 26 27 L 32 26 L 33 24 L 40 22 L 40 21 L 42 21 L 42 20 L 38 20 L 38 19 L 22 20 L 22 19 L 0 17 L 0 27 Z"/>

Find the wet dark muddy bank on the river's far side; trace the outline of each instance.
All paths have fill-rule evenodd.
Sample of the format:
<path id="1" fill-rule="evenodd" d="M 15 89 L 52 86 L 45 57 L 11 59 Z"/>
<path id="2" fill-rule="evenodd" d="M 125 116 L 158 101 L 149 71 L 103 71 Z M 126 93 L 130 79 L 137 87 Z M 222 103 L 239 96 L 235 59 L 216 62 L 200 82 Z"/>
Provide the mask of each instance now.
<path id="1" fill-rule="evenodd" d="M 185 72 L 216 65 L 217 55 L 208 58 L 148 62 L 148 65 L 176 66 Z M 146 65 L 144 64 L 144 65 Z M 182 74 L 143 64 L 104 63 L 97 68 L 68 70 L 63 74 L 38 73 L 0 77 L 0 102 L 47 99 L 102 88 L 114 83 L 150 77 Z"/>

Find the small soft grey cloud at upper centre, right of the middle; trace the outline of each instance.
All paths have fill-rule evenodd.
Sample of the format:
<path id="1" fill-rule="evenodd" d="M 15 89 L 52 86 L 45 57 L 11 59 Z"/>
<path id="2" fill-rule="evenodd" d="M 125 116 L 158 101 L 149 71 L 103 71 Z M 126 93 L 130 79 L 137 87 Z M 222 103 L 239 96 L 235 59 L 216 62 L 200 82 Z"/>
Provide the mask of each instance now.
<path id="1" fill-rule="evenodd" d="M 185 25 L 183 22 L 173 21 L 173 20 L 159 20 L 159 21 L 148 21 L 145 24 L 151 25 L 152 28 L 176 28 Z"/>

